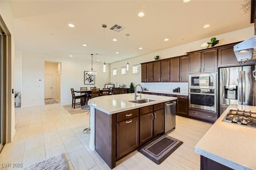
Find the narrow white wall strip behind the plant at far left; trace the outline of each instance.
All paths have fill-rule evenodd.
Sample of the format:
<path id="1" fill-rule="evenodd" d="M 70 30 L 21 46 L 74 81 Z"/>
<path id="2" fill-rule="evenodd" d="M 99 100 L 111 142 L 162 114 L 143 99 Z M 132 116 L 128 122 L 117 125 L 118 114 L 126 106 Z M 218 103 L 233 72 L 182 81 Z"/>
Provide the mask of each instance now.
<path id="1" fill-rule="evenodd" d="M 14 90 L 20 92 L 19 96 L 15 99 L 16 106 L 21 105 L 21 59 L 22 53 L 15 51 L 15 68 L 14 68 Z"/>

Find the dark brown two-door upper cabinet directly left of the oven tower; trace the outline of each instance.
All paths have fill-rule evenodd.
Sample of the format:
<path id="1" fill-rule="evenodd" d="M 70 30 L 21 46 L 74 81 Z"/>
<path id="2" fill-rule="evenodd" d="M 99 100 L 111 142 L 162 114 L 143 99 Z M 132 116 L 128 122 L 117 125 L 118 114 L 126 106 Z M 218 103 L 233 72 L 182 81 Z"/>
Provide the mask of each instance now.
<path id="1" fill-rule="evenodd" d="M 188 57 L 170 60 L 171 82 L 188 82 Z"/>

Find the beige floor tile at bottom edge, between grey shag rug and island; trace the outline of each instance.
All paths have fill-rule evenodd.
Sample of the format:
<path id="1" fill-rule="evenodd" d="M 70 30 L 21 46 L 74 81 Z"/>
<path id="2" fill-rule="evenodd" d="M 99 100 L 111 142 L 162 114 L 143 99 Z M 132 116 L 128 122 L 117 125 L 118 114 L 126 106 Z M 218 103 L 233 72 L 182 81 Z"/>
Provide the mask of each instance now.
<path id="1" fill-rule="evenodd" d="M 85 148 L 71 152 L 68 155 L 75 170 L 88 170 L 96 166 L 96 163 Z"/>

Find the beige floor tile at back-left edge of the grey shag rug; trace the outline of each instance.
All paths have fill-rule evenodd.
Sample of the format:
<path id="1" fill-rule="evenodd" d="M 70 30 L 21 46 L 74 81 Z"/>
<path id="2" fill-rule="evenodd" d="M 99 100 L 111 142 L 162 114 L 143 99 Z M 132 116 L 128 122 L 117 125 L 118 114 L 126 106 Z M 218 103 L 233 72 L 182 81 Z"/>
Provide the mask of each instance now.
<path id="1" fill-rule="evenodd" d="M 39 147 L 39 148 L 24 152 L 23 165 L 28 166 L 45 159 L 46 159 L 46 156 L 45 156 L 44 146 Z"/>

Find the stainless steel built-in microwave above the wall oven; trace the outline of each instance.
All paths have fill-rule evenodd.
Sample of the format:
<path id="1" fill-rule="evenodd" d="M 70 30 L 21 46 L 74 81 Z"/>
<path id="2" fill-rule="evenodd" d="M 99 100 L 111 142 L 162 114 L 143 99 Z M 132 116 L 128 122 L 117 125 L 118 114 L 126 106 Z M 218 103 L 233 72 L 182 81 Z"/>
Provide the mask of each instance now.
<path id="1" fill-rule="evenodd" d="M 216 73 L 213 74 L 190 74 L 189 88 L 216 89 Z"/>

